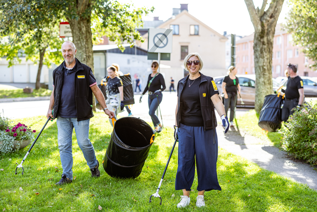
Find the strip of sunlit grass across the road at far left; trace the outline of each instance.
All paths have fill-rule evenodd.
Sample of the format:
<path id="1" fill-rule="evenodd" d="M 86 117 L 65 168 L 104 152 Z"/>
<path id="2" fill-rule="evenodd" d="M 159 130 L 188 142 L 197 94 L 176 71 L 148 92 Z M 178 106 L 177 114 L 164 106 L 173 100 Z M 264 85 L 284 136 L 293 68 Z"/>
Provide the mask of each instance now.
<path id="1" fill-rule="evenodd" d="M 33 89 L 32 93 L 24 93 L 22 88 L 16 88 L 13 86 L 0 85 L 0 99 L 3 98 L 18 98 L 18 97 L 39 97 L 39 96 L 50 96 L 51 90 L 40 88 Z"/>

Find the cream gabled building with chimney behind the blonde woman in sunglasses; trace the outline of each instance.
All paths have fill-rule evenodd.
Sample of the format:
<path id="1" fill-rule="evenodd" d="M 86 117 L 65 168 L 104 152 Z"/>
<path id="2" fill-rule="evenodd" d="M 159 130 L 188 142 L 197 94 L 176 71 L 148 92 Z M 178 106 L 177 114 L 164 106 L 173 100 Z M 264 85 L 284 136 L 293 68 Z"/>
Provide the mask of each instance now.
<path id="1" fill-rule="evenodd" d="M 184 4 L 182 4 L 182 7 Z M 204 62 L 202 73 L 211 77 L 225 75 L 225 42 L 228 38 L 188 13 L 187 4 L 179 14 L 171 17 L 157 28 L 173 29 L 171 60 L 161 60 L 160 72 L 165 77 L 166 88 L 173 77 L 177 83 L 187 75 L 184 72 L 184 57 L 198 52 Z M 142 49 L 148 49 L 148 33 L 143 36 L 144 43 L 137 43 Z"/>

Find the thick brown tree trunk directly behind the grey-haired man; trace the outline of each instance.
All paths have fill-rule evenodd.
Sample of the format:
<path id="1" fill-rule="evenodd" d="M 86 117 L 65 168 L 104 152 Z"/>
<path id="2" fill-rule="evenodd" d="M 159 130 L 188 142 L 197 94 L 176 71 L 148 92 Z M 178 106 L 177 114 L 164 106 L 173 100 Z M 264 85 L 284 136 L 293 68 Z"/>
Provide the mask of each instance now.
<path id="1" fill-rule="evenodd" d="M 93 41 L 90 29 L 90 15 L 80 17 L 78 20 L 68 18 L 72 30 L 73 43 L 76 46 L 76 58 L 88 65 L 94 73 Z M 93 95 L 93 111 L 96 111 L 95 97 Z"/>

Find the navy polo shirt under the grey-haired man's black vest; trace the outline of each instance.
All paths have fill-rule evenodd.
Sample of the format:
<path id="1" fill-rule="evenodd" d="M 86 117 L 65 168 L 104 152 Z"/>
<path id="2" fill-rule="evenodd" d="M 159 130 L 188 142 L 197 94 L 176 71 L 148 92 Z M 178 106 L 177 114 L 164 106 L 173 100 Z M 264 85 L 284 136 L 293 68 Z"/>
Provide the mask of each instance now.
<path id="1" fill-rule="evenodd" d="M 64 79 L 61 88 L 61 99 L 58 105 L 58 116 L 63 118 L 77 118 L 77 108 L 75 99 L 75 73 L 76 73 L 77 63 L 73 68 L 68 69 L 63 64 Z M 93 72 L 90 69 L 89 72 L 89 87 L 96 85 L 97 81 L 94 77 Z M 54 79 L 53 79 L 53 87 Z"/>

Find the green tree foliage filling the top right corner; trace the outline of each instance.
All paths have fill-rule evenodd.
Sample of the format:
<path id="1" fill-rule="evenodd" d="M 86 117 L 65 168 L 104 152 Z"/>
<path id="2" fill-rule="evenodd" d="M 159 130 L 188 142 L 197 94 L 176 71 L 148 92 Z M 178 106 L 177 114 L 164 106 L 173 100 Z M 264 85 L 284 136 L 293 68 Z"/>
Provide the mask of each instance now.
<path id="1" fill-rule="evenodd" d="M 314 61 L 317 67 L 317 1 L 290 0 L 291 9 L 286 21 L 286 29 L 293 35 L 294 44 Z"/>

